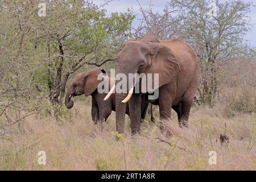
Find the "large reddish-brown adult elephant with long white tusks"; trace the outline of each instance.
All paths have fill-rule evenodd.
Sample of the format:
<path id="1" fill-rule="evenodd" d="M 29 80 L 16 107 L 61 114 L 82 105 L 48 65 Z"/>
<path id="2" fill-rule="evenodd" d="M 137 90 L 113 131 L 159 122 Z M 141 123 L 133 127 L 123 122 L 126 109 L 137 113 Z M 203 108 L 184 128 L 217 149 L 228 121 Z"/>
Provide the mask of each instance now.
<path id="1" fill-rule="evenodd" d="M 199 79 L 199 65 L 195 50 L 179 39 L 158 40 L 146 34 L 140 40 L 128 40 L 118 54 L 119 73 L 158 73 L 159 97 L 149 100 L 159 105 L 160 121 L 171 117 L 171 107 L 176 111 L 180 127 L 188 126 L 188 117 Z M 118 81 L 116 81 L 116 85 Z M 125 110 L 129 100 L 130 110 L 139 110 L 141 94 L 133 92 L 129 85 L 128 94 L 116 93 L 115 120 L 118 133 L 124 132 Z M 130 113 L 131 134 L 141 133 L 138 113 Z M 160 129 L 161 126 L 160 126 Z"/>

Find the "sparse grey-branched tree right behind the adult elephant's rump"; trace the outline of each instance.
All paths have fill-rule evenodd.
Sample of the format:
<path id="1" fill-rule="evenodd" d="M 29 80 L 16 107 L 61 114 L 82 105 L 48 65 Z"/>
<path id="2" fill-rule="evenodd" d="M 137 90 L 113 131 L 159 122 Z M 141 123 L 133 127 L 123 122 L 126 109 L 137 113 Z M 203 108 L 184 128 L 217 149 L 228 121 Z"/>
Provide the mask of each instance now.
<path id="1" fill-rule="evenodd" d="M 151 32 L 160 39 L 181 38 L 196 49 L 201 66 L 200 100 L 213 106 L 220 82 L 220 64 L 251 56 L 251 47 L 244 38 L 250 30 L 246 14 L 251 6 L 251 2 L 240 0 L 213 3 L 174 0 L 167 3 L 163 14 L 152 13 L 151 8 L 141 9 L 141 27 L 143 32 Z M 152 28 L 151 24 L 158 28 Z"/>

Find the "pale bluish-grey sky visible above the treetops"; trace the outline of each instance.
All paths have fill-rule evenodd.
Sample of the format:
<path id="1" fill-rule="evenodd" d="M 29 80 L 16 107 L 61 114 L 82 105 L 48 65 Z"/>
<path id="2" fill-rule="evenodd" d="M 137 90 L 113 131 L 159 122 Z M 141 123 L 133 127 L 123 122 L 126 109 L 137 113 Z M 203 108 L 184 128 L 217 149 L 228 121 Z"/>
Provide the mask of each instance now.
<path id="1" fill-rule="evenodd" d="M 141 4 L 142 8 L 148 7 L 149 3 L 151 2 L 152 9 L 154 11 L 158 11 L 159 13 L 163 11 L 164 7 L 166 6 L 166 0 L 138 0 Z M 126 12 L 127 9 L 131 9 L 137 17 L 142 16 L 139 12 L 140 6 L 137 0 L 114 0 L 110 2 L 105 8 L 108 11 L 108 14 L 111 12 Z M 253 0 L 243 0 L 244 2 L 254 2 L 256 5 L 256 1 Z M 96 5 L 104 4 L 104 0 L 93 0 L 93 3 Z M 247 33 L 245 36 L 246 40 L 249 40 L 251 46 L 256 46 L 256 7 L 251 7 L 251 12 L 248 14 L 251 18 L 250 24 L 252 26 L 251 31 Z M 137 26 L 138 21 L 135 20 L 133 26 Z"/>

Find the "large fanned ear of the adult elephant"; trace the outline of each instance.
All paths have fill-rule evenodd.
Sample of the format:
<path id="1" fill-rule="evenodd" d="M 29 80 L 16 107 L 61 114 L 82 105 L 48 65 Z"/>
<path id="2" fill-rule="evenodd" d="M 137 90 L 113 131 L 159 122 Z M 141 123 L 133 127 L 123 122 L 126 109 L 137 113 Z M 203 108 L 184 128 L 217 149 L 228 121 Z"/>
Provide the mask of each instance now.
<path id="1" fill-rule="evenodd" d="M 164 46 L 161 43 L 147 44 L 149 44 L 151 47 L 151 63 L 150 65 L 148 65 L 145 72 L 152 73 L 152 84 L 155 83 L 154 73 L 159 74 L 158 88 L 167 84 L 168 82 L 173 82 L 174 84 L 176 84 L 177 76 L 180 72 L 180 65 L 179 61 L 174 55 L 174 52 L 172 52 L 170 48 Z M 157 86 L 152 88 L 156 89 Z"/>

